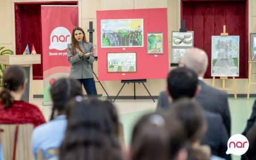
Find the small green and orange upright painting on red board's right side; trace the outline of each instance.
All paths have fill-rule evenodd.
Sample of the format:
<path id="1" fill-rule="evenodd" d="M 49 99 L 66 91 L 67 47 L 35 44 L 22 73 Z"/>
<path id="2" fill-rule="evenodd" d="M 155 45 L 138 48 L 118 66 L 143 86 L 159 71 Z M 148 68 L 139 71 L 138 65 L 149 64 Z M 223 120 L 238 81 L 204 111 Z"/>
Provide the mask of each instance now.
<path id="1" fill-rule="evenodd" d="M 163 32 L 147 33 L 147 54 L 163 54 Z"/>

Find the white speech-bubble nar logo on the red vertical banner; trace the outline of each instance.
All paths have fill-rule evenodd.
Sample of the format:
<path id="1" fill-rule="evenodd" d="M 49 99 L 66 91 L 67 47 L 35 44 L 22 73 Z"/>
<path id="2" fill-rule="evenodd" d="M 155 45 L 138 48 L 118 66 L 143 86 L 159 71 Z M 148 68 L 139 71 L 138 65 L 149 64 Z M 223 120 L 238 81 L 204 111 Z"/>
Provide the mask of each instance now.
<path id="1" fill-rule="evenodd" d="M 71 33 L 65 27 L 57 27 L 52 30 L 49 49 L 64 50 L 71 43 Z"/>

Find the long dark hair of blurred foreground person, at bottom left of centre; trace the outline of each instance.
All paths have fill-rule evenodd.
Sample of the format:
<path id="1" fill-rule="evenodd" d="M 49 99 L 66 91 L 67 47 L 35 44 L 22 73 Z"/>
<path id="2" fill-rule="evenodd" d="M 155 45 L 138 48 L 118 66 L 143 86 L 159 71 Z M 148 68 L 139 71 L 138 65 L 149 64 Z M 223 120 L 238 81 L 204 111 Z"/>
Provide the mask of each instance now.
<path id="1" fill-rule="evenodd" d="M 121 160 L 121 147 L 101 100 L 77 97 L 67 104 L 68 127 L 60 160 Z"/>

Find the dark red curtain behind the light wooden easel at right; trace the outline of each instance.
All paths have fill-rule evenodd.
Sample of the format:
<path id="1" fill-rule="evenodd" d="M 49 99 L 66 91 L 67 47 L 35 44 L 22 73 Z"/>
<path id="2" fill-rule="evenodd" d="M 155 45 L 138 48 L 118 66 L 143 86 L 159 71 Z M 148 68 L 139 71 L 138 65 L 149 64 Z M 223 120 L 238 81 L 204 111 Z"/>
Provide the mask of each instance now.
<path id="1" fill-rule="evenodd" d="M 188 31 L 194 31 L 194 47 L 204 49 L 209 65 L 205 78 L 211 78 L 212 35 L 219 36 L 226 25 L 230 36 L 240 36 L 240 77 L 248 70 L 248 2 L 247 0 L 195 1 L 181 0 L 181 19 Z"/>

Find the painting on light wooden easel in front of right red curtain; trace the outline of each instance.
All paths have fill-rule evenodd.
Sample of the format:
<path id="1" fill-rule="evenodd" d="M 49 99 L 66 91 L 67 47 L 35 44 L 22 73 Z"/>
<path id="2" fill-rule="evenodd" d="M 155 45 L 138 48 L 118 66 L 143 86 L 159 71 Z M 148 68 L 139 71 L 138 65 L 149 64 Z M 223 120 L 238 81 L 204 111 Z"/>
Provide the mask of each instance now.
<path id="1" fill-rule="evenodd" d="M 239 36 L 212 36 L 212 77 L 239 76 Z"/>

